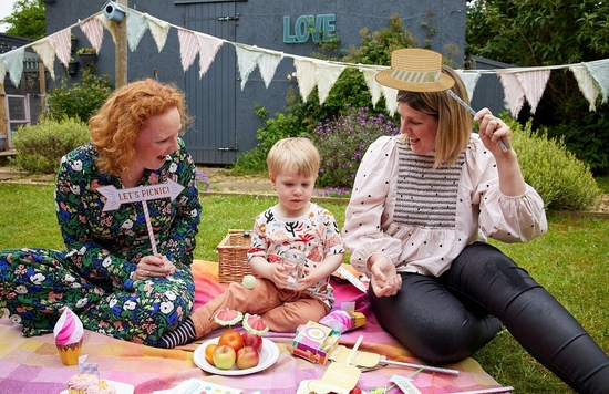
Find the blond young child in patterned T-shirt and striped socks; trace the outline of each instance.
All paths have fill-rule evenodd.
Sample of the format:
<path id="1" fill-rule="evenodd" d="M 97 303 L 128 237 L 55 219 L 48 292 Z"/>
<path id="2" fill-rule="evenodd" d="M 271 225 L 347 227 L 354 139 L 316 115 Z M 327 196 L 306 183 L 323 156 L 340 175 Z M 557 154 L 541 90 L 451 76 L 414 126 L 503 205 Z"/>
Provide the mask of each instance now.
<path id="1" fill-rule="evenodd" d="M 158 348 L 190 343 L 220 328 L 220 309 L 259 314 L 270 330 L 295 332 L 309 320 L 319 321 L 334 303 L 329 277 L 344 259 L 333 215 L 311 203 L 320 156 L 307 138 L 278 141 L 267 157 L 269 178 L 279 203 L 256 217 L 248 259 L 258 276 L 248 289 L 234 282 L 227 291 L 195 310 L 177 329 L 164 334 Z M 289 281 L 283 257 L 302 252 L 303 277 Z"/>

